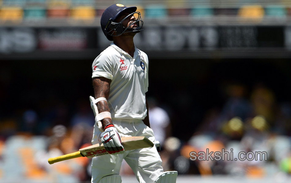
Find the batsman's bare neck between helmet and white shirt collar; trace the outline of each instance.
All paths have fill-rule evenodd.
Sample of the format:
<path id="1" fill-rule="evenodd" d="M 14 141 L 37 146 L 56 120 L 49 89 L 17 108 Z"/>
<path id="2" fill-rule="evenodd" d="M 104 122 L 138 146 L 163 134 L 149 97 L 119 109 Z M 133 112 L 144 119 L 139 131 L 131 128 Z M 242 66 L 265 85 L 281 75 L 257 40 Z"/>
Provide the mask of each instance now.
<path id="1" fill-rule="evenodd" d="M 120 37 L 118 39 L 114 39 L 113 43 L 133 58 L 135 50 L 133 37 Z"/>

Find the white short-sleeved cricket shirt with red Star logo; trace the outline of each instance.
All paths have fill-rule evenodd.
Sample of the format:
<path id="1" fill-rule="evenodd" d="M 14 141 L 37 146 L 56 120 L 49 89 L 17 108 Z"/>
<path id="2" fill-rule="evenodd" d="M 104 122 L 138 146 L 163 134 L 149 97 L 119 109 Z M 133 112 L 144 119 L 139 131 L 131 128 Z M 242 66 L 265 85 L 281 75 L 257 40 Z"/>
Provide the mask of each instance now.
<path id="1" fill-rule="evenodd" d="M 113 118 L 144 119 L 148 91 L 148 56 L 135 48 L 132 58 L 111 44 L 92 64 L 92 78 L 111 79 L 108 105 Z"/>

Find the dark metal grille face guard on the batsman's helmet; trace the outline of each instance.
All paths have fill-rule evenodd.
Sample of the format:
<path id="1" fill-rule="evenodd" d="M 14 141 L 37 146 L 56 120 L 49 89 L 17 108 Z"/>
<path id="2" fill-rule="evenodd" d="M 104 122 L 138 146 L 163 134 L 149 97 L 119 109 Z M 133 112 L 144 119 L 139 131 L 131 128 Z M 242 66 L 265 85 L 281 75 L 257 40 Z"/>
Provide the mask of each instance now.
<path id="1" fill-rule="evenodd" d="M 134 21 L 130 21 L 130 25 L 128 27 L 124 27 L 122 25 L 122 22 L 124 20 L 126 20 L 128 17 L 132 17 L 134 16 L 135 20 Z M 129 28 L 131 25 L 136 24 L 137 27 L 134 28 Z M 141 13 L 140 12 L 134 12 L 134 13 L 130 13 L 128 16 L 126 16 L 123 20 L 121 20 L 120 22 L 116 23 L 116 22 L 112 22 L 111 19 L 109 19 L 108 22 L 108 26 L 105 28 L 105 32 L 106 32 L 106 37 L 110 38 L 111 36 L 120 36 L 123 33 L 127 33 L 127 32 L 135 32 L 138 33 L 140 32 L 143 26 L 143 21 L 142 21 L 142 17 L 141 17 Z"/>

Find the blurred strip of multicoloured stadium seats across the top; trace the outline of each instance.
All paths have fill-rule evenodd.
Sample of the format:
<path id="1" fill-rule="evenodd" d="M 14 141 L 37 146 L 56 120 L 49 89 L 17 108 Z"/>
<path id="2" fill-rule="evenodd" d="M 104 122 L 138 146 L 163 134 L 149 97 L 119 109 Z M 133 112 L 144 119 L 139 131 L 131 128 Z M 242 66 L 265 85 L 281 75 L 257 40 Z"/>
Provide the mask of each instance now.
<path id="1" fill-rule="evenodd" d="M 76 19 L 98 19 L 104 9 L 114 0 L 2 0 L 2 20 L 67 17 Z M 159 0 L 159 1 L 132 1 L 122 0 L 127 6 L 137 5 L 142 11 L 143 19 L 167 17 L 208 17 L 216 20 L 232 19 L 233 17 L 263 19 L 268 17 L 290 17 L 290 1 L 263 1 L 263 0 Z M 47 12 L 47 13 L 44 13 Z M 11 18 L 9 18 L 11 17 Z M 77 18 L 79 17 L 79 18 Z M 53 22 L 50 22 L 53 23 Z"/>

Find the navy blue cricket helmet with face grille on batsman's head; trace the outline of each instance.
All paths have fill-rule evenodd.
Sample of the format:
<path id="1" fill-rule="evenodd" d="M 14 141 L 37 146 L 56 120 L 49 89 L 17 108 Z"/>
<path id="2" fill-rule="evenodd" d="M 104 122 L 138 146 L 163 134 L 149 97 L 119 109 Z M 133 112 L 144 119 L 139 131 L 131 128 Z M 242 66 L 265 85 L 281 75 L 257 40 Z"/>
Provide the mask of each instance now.
<path id="1" fill-rule="evenodd" d="M 142 21 L 140 12 L 136 12 L 136 9 L 137 7 L 135 6 L 126 7 L 122 4 L 114 4 L 114 5 L 109 6 L 107 9 L 105 9 L 105 11 L 103 12 L 101 16 L 100 23 L 101 23 L 101 29 L 109 41 L 113 41 L 112 36 L 119 36 L 123 34 L 124 32 L 138 33 L 142 30 L 143 21 Z M 136 24 L 137 27 L 134 27 L 132 29 L 129 28 L 130 25 L 128 27 L 124 27 L 122 25 L 122 22 L 127 17 L 125 17 L 120 22 L 115 22 L 115 19 L 118 17 L 118 15 L 124 11 L 132 12 L 127 17 L 134 16 L 135 21 L 131 23 L 130 25 Z"/>

